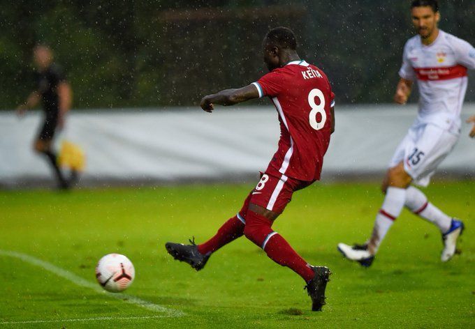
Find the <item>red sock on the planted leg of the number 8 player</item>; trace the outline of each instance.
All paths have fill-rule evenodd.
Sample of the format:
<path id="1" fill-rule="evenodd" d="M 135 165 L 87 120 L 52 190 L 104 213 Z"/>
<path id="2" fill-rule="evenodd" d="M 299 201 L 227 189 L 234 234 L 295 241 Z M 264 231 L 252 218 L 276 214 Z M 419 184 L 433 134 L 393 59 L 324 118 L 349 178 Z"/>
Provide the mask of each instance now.
<path id="1" fill-rule="evenodd" d="M 291 268 L 305 282 L 313 279 L 315 273 L 308 263 L 292 249 L 291 245 L 271 229 L 272 221 L 254 211 L 247 211 L 244 234 L 249 240 L 263 248 L 272 261 Z"/>

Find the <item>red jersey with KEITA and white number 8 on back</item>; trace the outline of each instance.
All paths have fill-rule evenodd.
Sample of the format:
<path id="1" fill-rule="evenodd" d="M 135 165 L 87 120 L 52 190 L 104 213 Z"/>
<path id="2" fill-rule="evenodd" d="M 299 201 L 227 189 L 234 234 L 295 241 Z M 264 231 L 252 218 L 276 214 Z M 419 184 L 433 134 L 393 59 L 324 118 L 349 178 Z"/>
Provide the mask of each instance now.
<path id="1" fill-rule="evenodd" d="M 320 179 L 335 105 L 325 73 L 305 61 L 291 61 L 254 85 L 259 97 L 268 96 L 279 112 L 279 149 L 268 169 L 300 181 Z"/>

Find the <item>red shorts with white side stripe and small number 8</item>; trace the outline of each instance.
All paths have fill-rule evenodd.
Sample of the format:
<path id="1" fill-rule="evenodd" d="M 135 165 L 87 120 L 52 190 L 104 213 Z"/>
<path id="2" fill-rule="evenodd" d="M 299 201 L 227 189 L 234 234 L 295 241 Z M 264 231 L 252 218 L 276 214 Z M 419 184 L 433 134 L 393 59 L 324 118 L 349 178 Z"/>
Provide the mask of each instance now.
<path id="1" fill-rule="evenodd" d="M 261 180 L 257 183 L 256 188 L 249 193 L 239 215 L 245 218 L 249 203 L 257 204 L 266 208 L 268 211 L 282 213 L 287 204 L 292 199 L 293 192 L 312 185 L 313 181 L 299 181 L 279 171 L 268 168 L 265 173 L 261 172 Z"/>

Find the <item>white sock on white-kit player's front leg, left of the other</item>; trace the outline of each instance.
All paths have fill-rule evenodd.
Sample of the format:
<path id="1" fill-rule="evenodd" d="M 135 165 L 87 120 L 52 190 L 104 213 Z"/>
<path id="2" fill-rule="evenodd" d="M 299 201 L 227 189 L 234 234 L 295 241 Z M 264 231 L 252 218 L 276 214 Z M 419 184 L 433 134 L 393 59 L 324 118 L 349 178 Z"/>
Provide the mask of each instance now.
<path id="1" fill-rule="evenodd" d="M 378 251 L 384 236 L 386 236 L 389 228 L 400 215 L 405 200 L 406 190 L 404 188 L 389 187 L 386 190 L 383 206 L 381 206 L 379 213 L 376 215 L 372 236 L 368 241 L 368 250 L 371 254 L 376 254 Z"/>

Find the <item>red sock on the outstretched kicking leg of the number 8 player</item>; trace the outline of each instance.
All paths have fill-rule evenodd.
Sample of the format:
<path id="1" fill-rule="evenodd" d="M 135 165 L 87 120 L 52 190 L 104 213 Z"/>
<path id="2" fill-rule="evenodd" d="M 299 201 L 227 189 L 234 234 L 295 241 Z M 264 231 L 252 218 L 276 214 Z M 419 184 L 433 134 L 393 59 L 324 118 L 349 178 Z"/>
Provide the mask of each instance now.
<path id="1" fill-rule="evenodd" d="M 201 254 L 208 254 L 215 252 L 219 248 L 227 245 L 232 240 L 242 236 L 244 232 L 244 223 L 241 222 L 238 216 L 230 218 L 221 226 L 215 236 L 207 240 L 205 243 L 198 245 L 198 252 Z"/>

